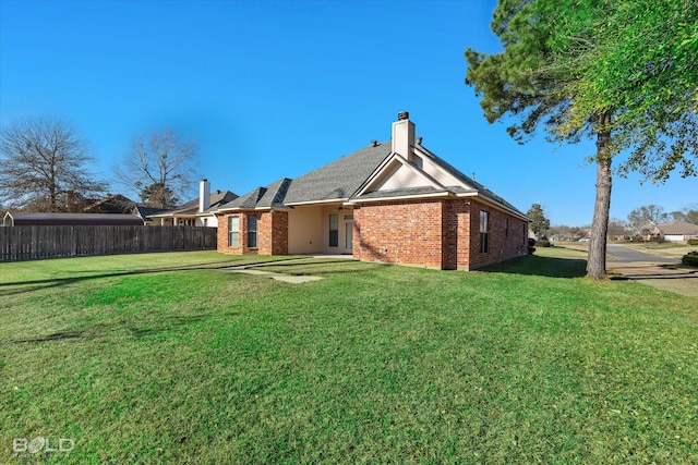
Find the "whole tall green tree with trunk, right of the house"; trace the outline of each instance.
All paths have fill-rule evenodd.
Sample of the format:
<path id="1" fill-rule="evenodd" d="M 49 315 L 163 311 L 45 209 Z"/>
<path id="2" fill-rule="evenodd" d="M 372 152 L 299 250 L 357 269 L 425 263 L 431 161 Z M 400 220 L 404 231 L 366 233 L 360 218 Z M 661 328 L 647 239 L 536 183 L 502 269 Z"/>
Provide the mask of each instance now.
<path id="1" fill-rule="evenodd" d="M 693 0 L 501 0 L 492 21 L 503 51 L 466 51 L 466 83 L 490 122 L 557 143 L 595 137 L 597 199 L 588 274 L 605 277 L 616 172 L 665 181 L 696 174 L 698 3 Z M 621 157 L 618 157 L 621 156 Z"/>

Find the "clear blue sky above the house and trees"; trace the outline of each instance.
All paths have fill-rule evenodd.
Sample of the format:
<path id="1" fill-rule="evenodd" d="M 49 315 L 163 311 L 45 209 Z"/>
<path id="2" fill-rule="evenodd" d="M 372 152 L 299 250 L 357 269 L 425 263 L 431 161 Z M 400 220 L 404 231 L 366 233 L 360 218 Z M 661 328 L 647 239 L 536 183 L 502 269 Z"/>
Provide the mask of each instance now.
<path id="1" fill-rule="evenodd" d="M 197 174 L 244 194 L 387 140 L 407 110 L 423 144 L 553 224 L 591 222 L 592 140 L 519 146 L 464 84 L 496 52 L 495 1 L 0 0 L 0 123 L 59 117 L 109 176 L 134 136 L 200 144 Z M 611 216 L 698 203 L 698 180 L 616 179 Z M 118 186 L 113 192 L 123 191 Z M 132 198 L 132 193 L 124 192 Z M 196 196 L 192 186 L 191 196 Z"/>

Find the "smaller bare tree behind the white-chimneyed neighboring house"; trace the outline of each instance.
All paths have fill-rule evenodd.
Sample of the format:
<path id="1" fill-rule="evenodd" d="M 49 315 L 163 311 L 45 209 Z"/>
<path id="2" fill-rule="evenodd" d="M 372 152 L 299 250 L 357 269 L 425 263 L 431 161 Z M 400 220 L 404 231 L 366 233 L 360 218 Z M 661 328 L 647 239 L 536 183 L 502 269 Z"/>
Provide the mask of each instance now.
<path id="1" fill-rule="evenodd" d="M 181 140 L 177 133 L 166 129 L 147 139 L 135 137 L 115 173 L 118 182 L 137 193 L 143 203 L 172 208 L 192 188 L 197 151 L 196 142 Z"/>

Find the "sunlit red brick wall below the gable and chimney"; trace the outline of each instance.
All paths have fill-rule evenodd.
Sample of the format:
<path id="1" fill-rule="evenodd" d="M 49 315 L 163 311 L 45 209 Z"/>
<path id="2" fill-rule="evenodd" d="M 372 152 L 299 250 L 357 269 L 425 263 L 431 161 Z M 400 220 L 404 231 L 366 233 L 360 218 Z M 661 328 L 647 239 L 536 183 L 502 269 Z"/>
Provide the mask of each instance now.
<path id="1" fill-rule="evenodd" d="M 353 210 L 353 256 L 443 268 L 441 200 L 376 203 Z"/>

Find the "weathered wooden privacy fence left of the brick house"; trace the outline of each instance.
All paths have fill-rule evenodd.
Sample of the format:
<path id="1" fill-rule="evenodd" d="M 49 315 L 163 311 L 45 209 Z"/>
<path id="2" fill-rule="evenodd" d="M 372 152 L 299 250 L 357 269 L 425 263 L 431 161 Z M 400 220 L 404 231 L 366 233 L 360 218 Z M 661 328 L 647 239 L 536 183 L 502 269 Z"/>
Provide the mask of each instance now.
<path id="1" fill-rule="evenodd" d="M 216 228 L 0 227 L 0 261 L 216 248 Z"/>

